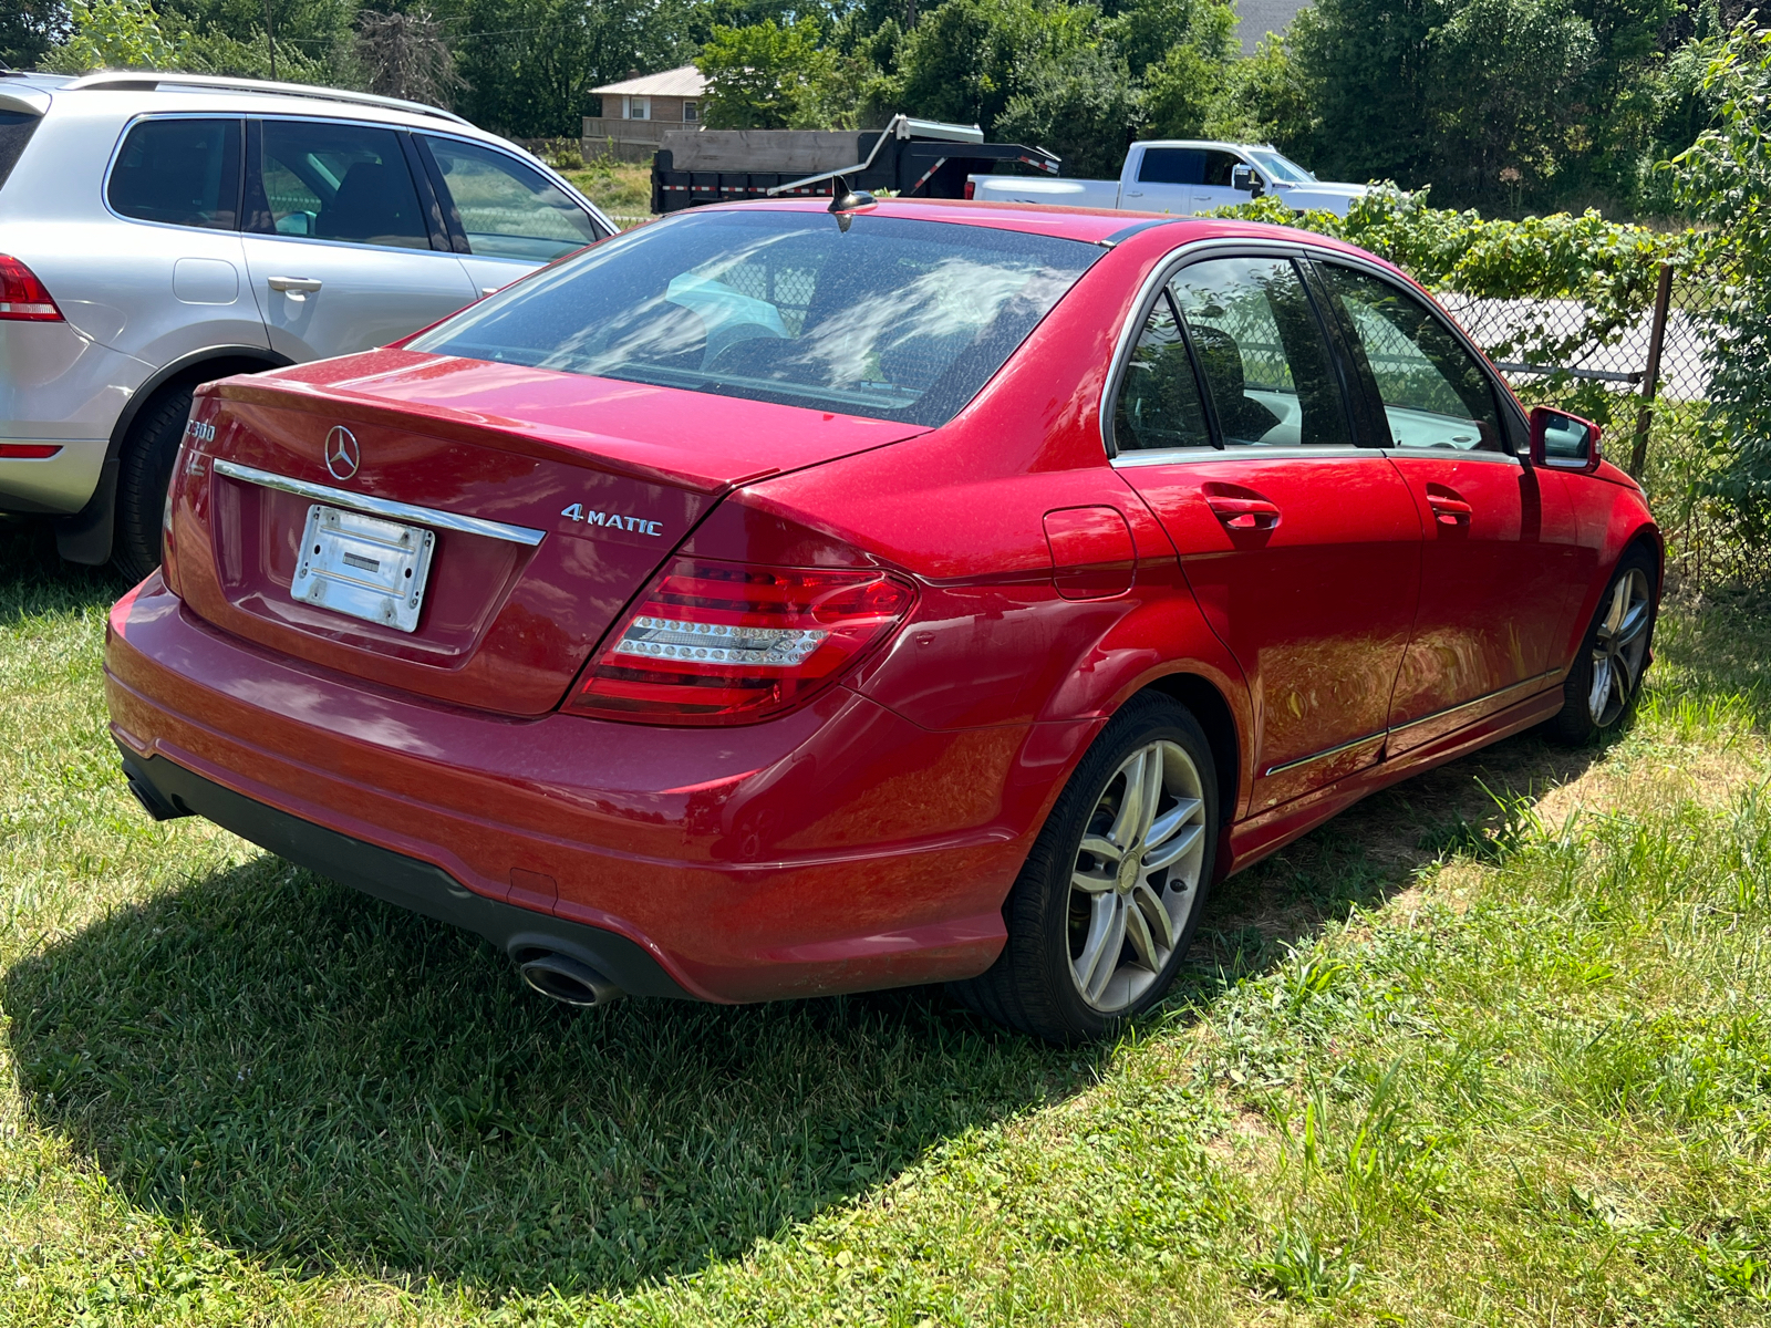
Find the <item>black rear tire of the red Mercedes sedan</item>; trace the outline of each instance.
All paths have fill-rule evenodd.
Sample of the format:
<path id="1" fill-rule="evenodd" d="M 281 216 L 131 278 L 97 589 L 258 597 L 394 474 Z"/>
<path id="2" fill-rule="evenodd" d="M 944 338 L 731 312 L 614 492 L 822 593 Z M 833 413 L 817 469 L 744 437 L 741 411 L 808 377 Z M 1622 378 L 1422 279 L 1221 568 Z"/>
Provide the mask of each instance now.
<path id="1" fill-rule="evenodd" d="M 1176 760 L 1171 747 L 1185 754 L 1187 761 Z M 1089 836 L 1091 843 L 1110 846 L 1119 818 L 1133 815 L 1126 809 L 1130 797 L 1126 765 L 1141 753 L 1156 753 L 1146 760 L 1155 761 L 1160 756 L 1165 765 L 1156 776 L 1162 790 L 1155 806 L 1162 811 L 1151 813 L 1156 825 L 1151 825 L 1151 838 L 1141 838 L 1139 843 L 1164 846 L 1139 850 L 1135 855 L 1118 859 L 1116 864 L 1114 859 L 1089 853 L 1084 836 Z M 1188 786 L 1188 779 L 1194 784 Z M 1187 807 L 1183 806 L 1187 799 L 1179 791 L 1194 786 L 1199 806 Z M 1179 822 L 1183 813 L 1187 820 Z M 1176 818 L 1178 829 L 1171 830 L 1172 839 L 1156 841 L 1153 834 L 1165 818 Z M 1197 834 L 1192 834 L 1195 829 Z M 1112 1036 L 1126 1018 L 1162 1000 L 1174 981 L 1199 926 L 1217 859 L 1217 767 L 1199 721 L 1165 696 L 1146 692 L 1133 698 L 1094 738 L 1057 797 L 1032 852 L 1027 853 L 1027 862 L 1002 905 L 1002 921 L 1008 926 L 1002 954 L 981 976 L 953 983 L 953 993 L 997 1023 L 1061 1046 Z M 1183 838 L 1188 845 L 1197 845 L 1197 850 L 1188 846 L 1174 866 L 1151 869 L 1162 876 L 1155 889 L 1149 885 L 1155 876 L 1139 885 L 1137 880 L 1146 871 L 1144 857 L 1160 857 Z M 1073 891 L 1071 880 L 1084 876 L 1091 882 L 1116 880 L 1121 885 Z M 1132 885 L 1123 887 L 1128 876 Z M 1179 891 L 1181 876 L 1190 880 L 1185 892 Z M 1116 894 L 1118 905 L 1112 903 Z M 1172 931 L 1165 958 L 1156 940 L 1162 917 L 1151 908 L 1153 903 L 1164 907 L 1162 917 L 1169 919 L 1167 926 Z M 1116 907 L 1125 910 L 1126 919 L 1121 924 L 1121 940 L 1112 954 L 1107 954 L 1110 940 L 1103 940 L 1094 951 L 1116 969 L 1105 970 L 1103 995 L 1089 999 L 1084 995 L 1086 979 L 1077 965 L 1087 967 L 1096 919 L 1103 910 Z M 1110 937 L 1110 926 L 1100 935 Z M 1160 960 L 1156 967 L 1142 961 L 1146 951 L 1139 942 L 1155 947 L 1149 958 Z M 1100 979 L 1103 970 L 1096 965 L 1089 972 Z"/>

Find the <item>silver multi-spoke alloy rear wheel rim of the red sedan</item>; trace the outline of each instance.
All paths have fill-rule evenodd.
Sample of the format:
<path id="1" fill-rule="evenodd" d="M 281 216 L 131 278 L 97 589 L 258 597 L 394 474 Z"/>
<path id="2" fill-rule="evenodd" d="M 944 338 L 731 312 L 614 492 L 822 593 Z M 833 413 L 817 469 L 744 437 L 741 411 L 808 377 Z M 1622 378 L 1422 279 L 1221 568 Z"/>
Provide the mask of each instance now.
<path id="1" fill-rule="evenodd" d="M 1204 784 L 1179 744 L 1133 751 L 1107 781 L 1070 873 L 1070 974 L 1102 1013 L 1164 972 L 1199 891 Z"/>

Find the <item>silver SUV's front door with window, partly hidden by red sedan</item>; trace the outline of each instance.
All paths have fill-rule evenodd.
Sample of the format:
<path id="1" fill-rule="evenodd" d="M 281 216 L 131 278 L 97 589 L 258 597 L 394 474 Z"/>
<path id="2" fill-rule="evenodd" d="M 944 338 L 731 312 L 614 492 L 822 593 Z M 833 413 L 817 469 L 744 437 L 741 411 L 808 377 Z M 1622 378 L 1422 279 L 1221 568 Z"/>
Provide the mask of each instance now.
<path id="1" fill-rule="evenodd" d="M 414 135 L 450 241 L 475 289 L 491 294 L 604 237 L 590 212 L 508 152 Z"/>

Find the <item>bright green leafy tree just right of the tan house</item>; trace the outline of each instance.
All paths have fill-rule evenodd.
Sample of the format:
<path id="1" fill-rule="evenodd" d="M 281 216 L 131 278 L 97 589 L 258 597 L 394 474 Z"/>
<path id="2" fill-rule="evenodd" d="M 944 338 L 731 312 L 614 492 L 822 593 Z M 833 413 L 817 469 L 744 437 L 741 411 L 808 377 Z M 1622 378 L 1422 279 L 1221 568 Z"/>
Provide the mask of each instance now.
<path id="1" fill-rule="evenodd" d="M 834 58 L 818 46 L 818 25 L 802 18 L 790 28 L 763 19 L 744 28 L 714 28 L 696 60 L 707 76 L 701 117 L 710 129 L 786 129 L 799 124 L 815 89 L 834 74 Z"/>

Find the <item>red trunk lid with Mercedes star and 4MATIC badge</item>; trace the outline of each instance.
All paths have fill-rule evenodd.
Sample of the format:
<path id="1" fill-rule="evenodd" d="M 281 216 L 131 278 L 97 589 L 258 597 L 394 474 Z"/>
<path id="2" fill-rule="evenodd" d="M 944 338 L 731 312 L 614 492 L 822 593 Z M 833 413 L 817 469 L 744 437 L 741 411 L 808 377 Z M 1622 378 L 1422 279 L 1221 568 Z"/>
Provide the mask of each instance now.
<path id="1" fill-rule="evenodd" d="M 223 379 L 191 418 L 168 560 L 191 613 L 287 657 L 510 715 L 558 706 L 730 489 L 923 432 L 406 351 Z M 313 533 L 338 528 L 328 508 L 349 513 L 345 529 L 427 545 L 425 565 L 404 563 L 404 584 L 421 586 L 413 630 L 296 597 L 321 561 Z"/>

